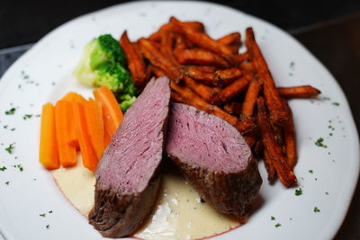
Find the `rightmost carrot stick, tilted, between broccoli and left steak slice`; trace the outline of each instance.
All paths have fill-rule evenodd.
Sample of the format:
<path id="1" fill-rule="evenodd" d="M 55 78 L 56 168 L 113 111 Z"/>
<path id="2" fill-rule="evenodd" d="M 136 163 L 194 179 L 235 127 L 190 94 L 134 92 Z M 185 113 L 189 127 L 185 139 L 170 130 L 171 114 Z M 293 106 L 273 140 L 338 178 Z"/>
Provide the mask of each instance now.
<path id="1" fill-rule="evenodd" d="M 103 105 L 103 122 L 105 130 L 108 132 L 109 136 L 112 137 L 116 129 L 119 128 L 123 118 L 119 104 L 112 91 L 106 86 L 95 89 L 93 93 L 95 100 L 101 102 Z"/>

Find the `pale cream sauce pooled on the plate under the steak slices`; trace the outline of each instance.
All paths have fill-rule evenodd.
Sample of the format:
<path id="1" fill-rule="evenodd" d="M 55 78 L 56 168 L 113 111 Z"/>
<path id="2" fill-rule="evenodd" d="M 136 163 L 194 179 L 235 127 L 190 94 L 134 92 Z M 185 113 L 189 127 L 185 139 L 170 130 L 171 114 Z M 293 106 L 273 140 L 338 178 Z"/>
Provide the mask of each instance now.
<path id="1" fill-rule="evenodd" d="M 94 173 L 81 163 L 51 172 L 58 187 L 81 214 L 94 206 Z M 165 173 L 153 212 L 134 234 L 143 239 L 196 239 L 238 227 L 229 218 L 201 202 L 200 196 L 178 173 Z"/>

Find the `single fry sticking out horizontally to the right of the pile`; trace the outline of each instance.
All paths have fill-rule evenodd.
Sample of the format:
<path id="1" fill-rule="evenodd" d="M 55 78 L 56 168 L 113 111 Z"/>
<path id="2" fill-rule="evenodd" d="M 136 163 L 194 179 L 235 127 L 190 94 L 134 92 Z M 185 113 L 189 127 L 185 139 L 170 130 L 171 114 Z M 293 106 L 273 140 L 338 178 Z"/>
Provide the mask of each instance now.
<path id="1" fill-rule="evenodd" d="M 284 98 L 311 98 L 321 93 L 320 90 L 311 85 L 278 87 L 277 92 Z"/>

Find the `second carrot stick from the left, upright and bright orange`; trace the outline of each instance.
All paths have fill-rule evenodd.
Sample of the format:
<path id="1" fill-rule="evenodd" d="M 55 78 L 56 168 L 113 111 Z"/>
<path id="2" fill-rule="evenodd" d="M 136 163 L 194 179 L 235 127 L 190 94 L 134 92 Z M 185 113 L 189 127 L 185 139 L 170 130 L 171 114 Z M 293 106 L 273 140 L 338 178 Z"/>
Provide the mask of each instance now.
<path id="1" fill-rule="evenodd" d="M 55 126 L 58 142 L 58 158 L 63 167 L 76 164 L 76 147 L 68 145 L 73 116 L 70 102 L 60 100 L 55 106 Z"/>

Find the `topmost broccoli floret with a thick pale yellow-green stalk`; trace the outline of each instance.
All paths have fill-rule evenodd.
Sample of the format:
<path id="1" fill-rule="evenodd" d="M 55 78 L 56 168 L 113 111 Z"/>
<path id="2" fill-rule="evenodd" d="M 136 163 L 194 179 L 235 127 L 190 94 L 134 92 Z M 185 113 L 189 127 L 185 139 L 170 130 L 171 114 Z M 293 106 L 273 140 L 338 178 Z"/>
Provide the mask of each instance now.
<path id="1" fill-rule="evenodd" d="M 96 70 L 103 64 L 126 66 L 126 56 L 119 42 L 105 34 L 90 41 L 83 51 L 74 75 L 81 83 L 94 86 Z"/>

